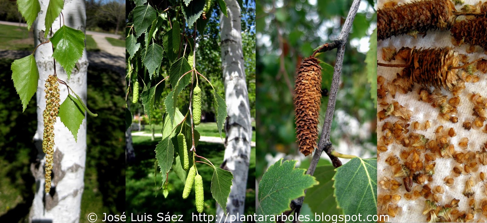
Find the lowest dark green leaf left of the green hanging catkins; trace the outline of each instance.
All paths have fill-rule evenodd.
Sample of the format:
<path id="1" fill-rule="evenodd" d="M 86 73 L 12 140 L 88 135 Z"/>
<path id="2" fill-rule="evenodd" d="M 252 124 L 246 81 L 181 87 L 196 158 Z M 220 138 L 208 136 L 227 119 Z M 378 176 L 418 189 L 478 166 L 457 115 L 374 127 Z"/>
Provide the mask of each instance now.
<path id="1" fill-rule="evenodd" d="M 169 137 L 162 139 L 155 147 L 155 158 L 162 173 L 162 183 L 166 182 L 166 174 L 172 167 L 174 147 Z"/>

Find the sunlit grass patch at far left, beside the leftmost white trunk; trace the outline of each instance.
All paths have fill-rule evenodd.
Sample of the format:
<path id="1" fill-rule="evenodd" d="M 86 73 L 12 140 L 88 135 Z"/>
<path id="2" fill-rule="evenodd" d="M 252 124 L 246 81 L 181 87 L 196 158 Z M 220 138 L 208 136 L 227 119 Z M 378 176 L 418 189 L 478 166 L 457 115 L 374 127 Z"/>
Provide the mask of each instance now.
<path id="1" fill-rule="evenodd" d="M 27 27 L 0 25 L 1 50 L 34 50 L 34 37 Z"/>

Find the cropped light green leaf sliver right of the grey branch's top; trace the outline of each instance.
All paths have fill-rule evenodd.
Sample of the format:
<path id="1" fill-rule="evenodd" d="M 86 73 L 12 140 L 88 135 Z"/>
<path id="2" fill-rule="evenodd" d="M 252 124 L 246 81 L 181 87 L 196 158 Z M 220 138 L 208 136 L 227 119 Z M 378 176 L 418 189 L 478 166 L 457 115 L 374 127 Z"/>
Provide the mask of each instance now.
<path id="1" fill-rule="evenodd" d="M 377 28 L 370 36 L 370 46 L 365 56 L 367 82 L 370 83 L 370 95 L 377 107 Z"/>

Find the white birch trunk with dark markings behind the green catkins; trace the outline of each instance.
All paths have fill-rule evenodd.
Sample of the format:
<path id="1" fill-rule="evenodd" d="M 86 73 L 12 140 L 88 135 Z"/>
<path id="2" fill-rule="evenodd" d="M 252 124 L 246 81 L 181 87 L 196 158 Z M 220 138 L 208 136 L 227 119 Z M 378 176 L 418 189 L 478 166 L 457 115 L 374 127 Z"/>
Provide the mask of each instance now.
<path id="1" fill-rule="evenodd" d="M 225 157 L 222 168 L 233 173 L 228 214 L 244 213 L 245 191 L 250 162 L 250 105 L 245 82 L 240 6 L 237 0 L 225 0 L 228 17 L 220 16 L 222 67 L 228 118 L 225 121 Z M 217 205 L 217 215 L 224 212 Z"/>

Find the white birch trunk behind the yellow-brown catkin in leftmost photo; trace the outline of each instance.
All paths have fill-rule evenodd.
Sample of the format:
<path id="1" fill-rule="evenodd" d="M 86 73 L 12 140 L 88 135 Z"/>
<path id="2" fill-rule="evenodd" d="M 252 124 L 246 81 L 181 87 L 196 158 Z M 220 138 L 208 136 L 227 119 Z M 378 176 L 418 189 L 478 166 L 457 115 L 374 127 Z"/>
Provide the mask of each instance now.
<path id="1" fill-rule="evenodd" d="M 44 18 L 49 0 L 40 0 L 40 13 L 34 22 L 35 45 L 44 42 Z M 62 10 L 65 25 L 85 32 L 86 9 L 83 0 L 65 1 Z M 53 33 L 60 28 L 59 17 L 54 21 Z M 62 22 L 62 19 L 61 19 Z M 77 223 L 80 218 L 81 195 L 86 160 L 86 119 L 78 130 L 77 142 L 71 132 L 57 118 L 54 125 L 55 147 L 52 173 L 52 188 L 49 194 L 44 192 L 45 154 L 42 153 L 42 135 L 44 123 L 42 112 L 46 107 L 44 84 L 48 75 L 54 73 L 52 44 L 43 44 L 37 48 L 35 58 L 39 69 L 37 86 L 37 132 L 34 136 L 39 152 L 38 162 L 31 170 L 36 178 L 36 195 L 29 214 L 29 222 Z M 57 77 L 67 84 L 86 102 L 88 59 L 86 49 L 77 63 L 68 81 L 64 69 L 56 63 Z M 61 103 L 68 96 L 67 87 L 59 85 Z M 82 216 L 86 218 L 86 216 Z"/>

